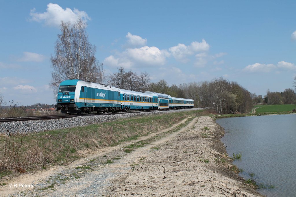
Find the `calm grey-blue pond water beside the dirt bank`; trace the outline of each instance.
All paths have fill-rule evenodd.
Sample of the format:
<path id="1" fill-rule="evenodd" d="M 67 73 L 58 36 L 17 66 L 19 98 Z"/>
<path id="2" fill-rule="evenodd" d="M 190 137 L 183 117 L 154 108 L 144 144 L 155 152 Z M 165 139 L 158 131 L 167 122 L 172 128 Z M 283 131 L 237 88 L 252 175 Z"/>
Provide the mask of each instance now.
<path id="1" fill-rule="evenodd" d="M 296 114 L 222 118 L 216 121 L 225 128 L 221 141 L 229 156 L 242 153 L 235 160 L 240 173 L 249 179 L 253 172 L 257 183 L 274 185 L 258 189 L 269 197 L 296 196 Z"/>

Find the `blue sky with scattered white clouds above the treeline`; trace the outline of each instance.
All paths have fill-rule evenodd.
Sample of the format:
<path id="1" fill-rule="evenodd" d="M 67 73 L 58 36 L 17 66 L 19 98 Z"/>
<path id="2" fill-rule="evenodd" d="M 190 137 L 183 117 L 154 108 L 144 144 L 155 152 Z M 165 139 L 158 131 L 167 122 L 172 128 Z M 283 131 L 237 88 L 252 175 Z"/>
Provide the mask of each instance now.
<path id="1" fill-rule="evenodd" d="M 152 82 L 237 81 L 251 93 L 292 88 L 296 1 L 1 1 L 0 92 L 55 103 L 50 56 L 59 21 L 88 23 L 105 75 L 120 66 Z M 294 14 L 293 14 L 294 13 Z"/>

